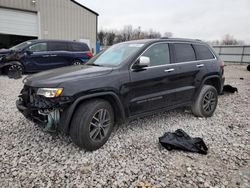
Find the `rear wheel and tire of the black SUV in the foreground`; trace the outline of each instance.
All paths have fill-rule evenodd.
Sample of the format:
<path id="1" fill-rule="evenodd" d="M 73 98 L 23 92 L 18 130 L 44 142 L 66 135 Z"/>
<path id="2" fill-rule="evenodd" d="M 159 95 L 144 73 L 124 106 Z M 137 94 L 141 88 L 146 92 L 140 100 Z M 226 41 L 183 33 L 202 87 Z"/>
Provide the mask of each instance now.
<path id="1" fill-rule="evenodd" d="M 195 116 L 211 117 L 218 103 L 218 93 L 215 87 L 204 85 L 191 109 Z"/>

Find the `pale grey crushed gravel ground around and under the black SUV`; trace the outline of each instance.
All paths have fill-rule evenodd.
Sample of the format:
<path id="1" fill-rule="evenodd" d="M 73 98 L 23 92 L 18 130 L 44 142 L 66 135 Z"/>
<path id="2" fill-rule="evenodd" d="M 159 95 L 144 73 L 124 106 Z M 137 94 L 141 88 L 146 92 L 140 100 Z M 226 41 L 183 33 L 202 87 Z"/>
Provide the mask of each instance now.
<path id="1" fill-rule="evenodd" d="M 239 93 L 220 96 L 212 118 L 177 109 L 138 119 L 94 152 L 26 120 L 15 107 L 21 80 L 0 76 L 0 187 L 250 187 L 250 72 L 225 72 Z M 209 153 L 160 147 L 158 137 L 178 128 L 202 137 Z"/>

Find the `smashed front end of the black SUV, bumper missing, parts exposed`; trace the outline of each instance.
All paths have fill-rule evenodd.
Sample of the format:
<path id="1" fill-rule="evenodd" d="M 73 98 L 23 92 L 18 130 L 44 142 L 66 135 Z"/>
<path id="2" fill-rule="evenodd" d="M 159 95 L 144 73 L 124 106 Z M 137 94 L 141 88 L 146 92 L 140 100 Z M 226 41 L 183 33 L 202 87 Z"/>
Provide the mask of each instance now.
<path id="1" fill-rule="evenodd" d="M 42 125 L 44 131 L 55 131 L 61 114 L 73 100 L 64 96 L 48 98 L 38 95 L 38 90 L 39 88 L 24 85 L 16 106 L 26 118 Z"/>

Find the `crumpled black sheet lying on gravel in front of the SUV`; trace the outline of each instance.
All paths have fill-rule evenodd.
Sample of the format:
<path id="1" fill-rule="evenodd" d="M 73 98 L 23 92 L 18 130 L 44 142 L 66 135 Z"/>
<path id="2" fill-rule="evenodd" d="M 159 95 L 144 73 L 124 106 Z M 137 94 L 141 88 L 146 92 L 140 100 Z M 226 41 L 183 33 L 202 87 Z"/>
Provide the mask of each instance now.
<path id="1" fill-rule="evenodd" d="M 166 132 L 159 138 L 160 144 L 167 150 L 177 149 L 200 154 L 207 154 L 208 148 L 202 138 L 192 138 L 181 129 Z"/>

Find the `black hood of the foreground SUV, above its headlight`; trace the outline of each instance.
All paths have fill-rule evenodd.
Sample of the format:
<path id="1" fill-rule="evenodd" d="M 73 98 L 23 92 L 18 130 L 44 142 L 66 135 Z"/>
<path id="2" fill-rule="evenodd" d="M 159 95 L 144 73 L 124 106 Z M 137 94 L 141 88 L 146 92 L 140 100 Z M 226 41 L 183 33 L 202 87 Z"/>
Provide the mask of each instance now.
<path id="1" fill-rule="evenodd" d="M 113 69 L 110 67 L 97 67 L 90 65 L 68 66 L 51 69 L 26 77 L 23 82 L 32 87 L 58 87 L 64 82 L 72 82 L 98 77 L 108 74 Z"/>

